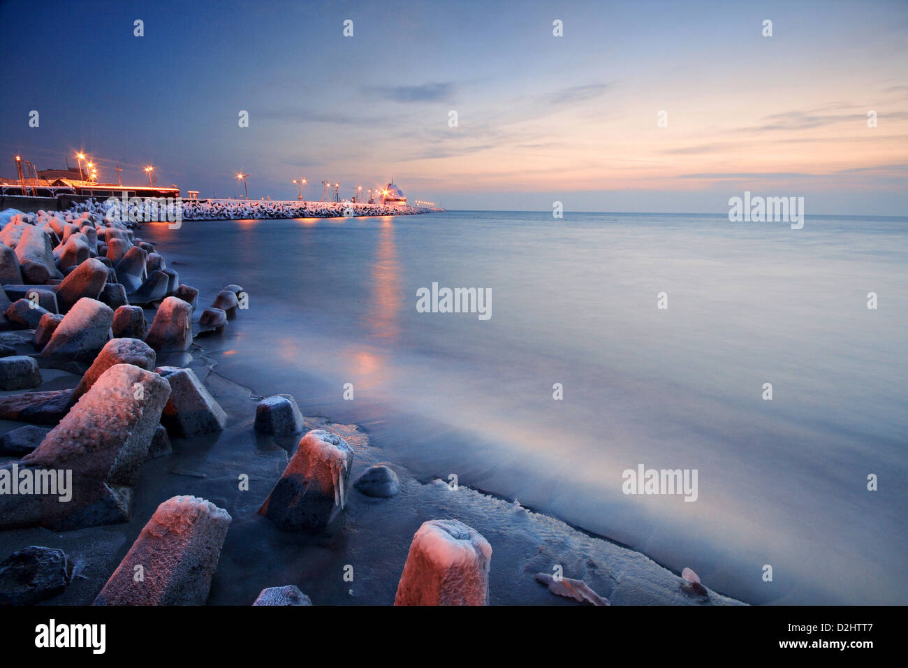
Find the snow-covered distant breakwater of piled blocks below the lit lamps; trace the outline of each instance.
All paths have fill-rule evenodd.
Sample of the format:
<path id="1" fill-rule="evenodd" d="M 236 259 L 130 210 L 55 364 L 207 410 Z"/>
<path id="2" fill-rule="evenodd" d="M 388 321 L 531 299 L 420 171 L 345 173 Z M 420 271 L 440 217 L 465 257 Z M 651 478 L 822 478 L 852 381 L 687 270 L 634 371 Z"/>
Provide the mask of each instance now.
<path id="1" fill-rule="evenodd" d="M 271 202 L 267 200 L 204 200 L 183 202 L 183 220 L 244 220 L 246 218 L 340 218 L 359 215 L 432 214 L 435 206 L 359 204 L 352 202 Z"/>

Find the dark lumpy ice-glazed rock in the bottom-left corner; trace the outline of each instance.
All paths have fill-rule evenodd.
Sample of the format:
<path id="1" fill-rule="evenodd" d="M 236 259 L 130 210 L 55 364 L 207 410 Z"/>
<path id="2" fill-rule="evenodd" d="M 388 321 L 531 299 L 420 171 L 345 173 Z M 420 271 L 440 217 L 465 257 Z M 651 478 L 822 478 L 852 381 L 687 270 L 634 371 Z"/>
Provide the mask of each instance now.
<path id="1" fill-rule="evenodd" d="M 31 545 L 0 563 L 0 605 L 35 605 L 64 593 L 73 564 L 63 550 Z"/>

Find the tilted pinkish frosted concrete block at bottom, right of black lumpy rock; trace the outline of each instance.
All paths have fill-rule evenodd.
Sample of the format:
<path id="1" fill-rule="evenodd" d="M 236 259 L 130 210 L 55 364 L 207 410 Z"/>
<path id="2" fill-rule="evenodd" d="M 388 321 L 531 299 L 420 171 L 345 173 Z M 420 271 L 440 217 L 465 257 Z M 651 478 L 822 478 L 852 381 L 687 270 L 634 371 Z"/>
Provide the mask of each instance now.
<path id="1" fill-rule="evenodd" d="M 158 506 L 94 605 L 203 605 L 231 516 L 195 496 Z M 135 573 L 143 577 L 139 582 Z"/>

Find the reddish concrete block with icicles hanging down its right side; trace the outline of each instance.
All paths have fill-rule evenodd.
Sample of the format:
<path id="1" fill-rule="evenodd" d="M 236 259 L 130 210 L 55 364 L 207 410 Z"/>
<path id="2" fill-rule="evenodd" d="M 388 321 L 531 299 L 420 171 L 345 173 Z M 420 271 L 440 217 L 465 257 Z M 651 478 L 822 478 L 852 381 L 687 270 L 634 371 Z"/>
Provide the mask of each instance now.
<path id="1" fill-rule="evenodd" d="M 347 503 L 353 450 L 341 436 L 313 429 L 302 437 L 259 514 L 284 531 L 328 526 Z"/>

